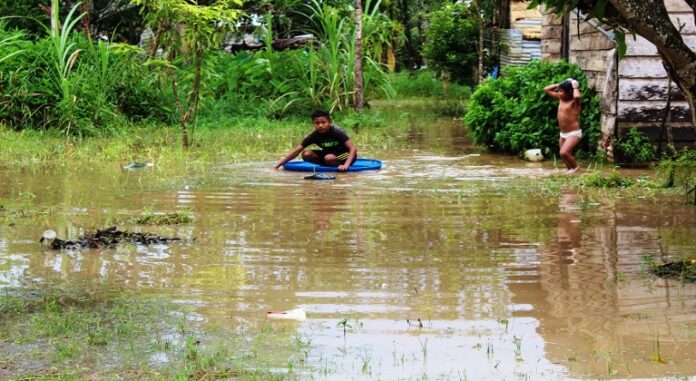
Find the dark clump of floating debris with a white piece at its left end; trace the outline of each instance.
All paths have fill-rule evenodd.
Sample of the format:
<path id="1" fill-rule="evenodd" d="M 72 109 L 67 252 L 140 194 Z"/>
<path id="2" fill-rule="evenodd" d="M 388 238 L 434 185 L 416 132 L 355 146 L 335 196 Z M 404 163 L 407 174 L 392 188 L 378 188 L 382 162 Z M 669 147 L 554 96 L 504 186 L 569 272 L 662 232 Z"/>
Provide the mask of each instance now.
<path id="1" fill-rule="evenodd" d="M 80 236 L 80 238 L 76 241 L 64 241 L 62 239 L 55 238 L 55 232 L 53 232 L 53 235 L 51 233 L 47 234 L 47 232 L 49 231 L 44 232 L 44 236 L 41 237 L 39 242 L 51 250 L 103 249 L 115 247 L 124 243 L 135 245 L 152 245 L 172 241 L 181 241 L 181 238 L 167 238 L 154 233 L 120 231 L 116 229 L 115 226 L 106 228 L 104 230 L 97 230 L 96 233 L 93 234 L 85 234 L 84 236 Z M 53 236 L 54 238 L 48 238 L 47 236 Z"/>

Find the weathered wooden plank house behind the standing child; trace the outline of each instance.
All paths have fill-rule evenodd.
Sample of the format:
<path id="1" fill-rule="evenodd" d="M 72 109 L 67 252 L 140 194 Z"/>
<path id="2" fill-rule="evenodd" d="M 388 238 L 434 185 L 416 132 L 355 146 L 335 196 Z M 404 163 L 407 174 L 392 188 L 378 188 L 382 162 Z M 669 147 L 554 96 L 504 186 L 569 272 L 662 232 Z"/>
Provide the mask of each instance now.
<path id="1" fill-rule="evenodd" d="M 696 50 L 693 10 L 685 0 L 665 0 L 665 5 L 675 25 L 684 25 L 684 41 Z M 581 13 L 562 18 L 547 13 L 542 18 L 542 58 L 567 59 L 585 72 L 601 97 L 604 139 L 614 140 L 639 128 L 653 141 L 661 135 L 666 141 L 671 135 L 677 148 L 693 145 L 696 128 L 691 126 L 691 111 L 676 84 L 668 80 L 657 49 L 640 36 L 627 36 L 626 44 L 626 55 L 619 60 L 613 32 Z"/>

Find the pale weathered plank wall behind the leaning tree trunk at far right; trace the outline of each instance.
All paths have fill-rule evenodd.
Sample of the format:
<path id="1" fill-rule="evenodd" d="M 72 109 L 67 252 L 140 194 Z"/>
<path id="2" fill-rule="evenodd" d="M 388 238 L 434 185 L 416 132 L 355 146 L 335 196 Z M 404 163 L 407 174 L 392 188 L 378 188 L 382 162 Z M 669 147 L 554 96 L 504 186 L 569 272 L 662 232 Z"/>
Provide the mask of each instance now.
<path id="1" fill-rule="evenodd" d="M 684 0 L 665 0 L 670 18 L 675 25 L 684 24 L 682 36 L 696 50 L 696 25 L 693 10 Z M 627 36 L 628 50 L 619 61 L 618 135 L 630 128 L 656 140 L 665 118 L 667 103 L 667 72 L 655 46 L 637 36 Z M 690 128 L 691 111 L 683 95 L 674 84 L 671 88 L 671 123 L 675 144 L 678 146 L 696 141 L 696 133 Z"/>

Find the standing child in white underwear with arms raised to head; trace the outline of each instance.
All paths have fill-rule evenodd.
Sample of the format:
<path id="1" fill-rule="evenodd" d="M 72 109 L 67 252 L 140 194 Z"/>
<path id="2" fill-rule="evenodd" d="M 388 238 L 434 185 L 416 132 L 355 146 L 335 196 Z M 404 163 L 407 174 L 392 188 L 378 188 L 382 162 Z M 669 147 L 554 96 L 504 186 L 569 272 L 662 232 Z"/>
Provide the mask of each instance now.
<path id="1" fill-rule="evenodd" d="M 544 87 L 549 96 L 558 99 L 558 127 L 561 138 L 558 141 L 560 156 L 565 162 L 568 174 L 578 170 L 578 164 L 573 157 L 573 149 L 582 140 L 580 129 L 580 110 L 582 97 L 578 89 L 578 81 L 568 78 L 561 83 Z"/>

